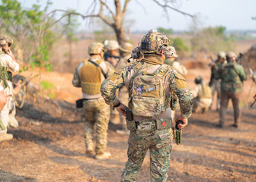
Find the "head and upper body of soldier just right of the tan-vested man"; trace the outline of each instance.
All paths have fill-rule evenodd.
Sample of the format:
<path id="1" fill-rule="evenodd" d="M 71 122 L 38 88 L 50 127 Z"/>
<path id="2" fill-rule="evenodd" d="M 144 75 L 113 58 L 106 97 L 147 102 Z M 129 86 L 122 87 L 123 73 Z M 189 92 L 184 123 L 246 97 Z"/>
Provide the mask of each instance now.
<path id="1" fill-rule="evenodd" d="M 104 53 L 104 60 L 112 64 L 112 66 L 117 67 L 118 61 L 120 61 L 119 56 L 119 45 L 115 40 L 109 40 L 106 42 L 107 52 Z"/>

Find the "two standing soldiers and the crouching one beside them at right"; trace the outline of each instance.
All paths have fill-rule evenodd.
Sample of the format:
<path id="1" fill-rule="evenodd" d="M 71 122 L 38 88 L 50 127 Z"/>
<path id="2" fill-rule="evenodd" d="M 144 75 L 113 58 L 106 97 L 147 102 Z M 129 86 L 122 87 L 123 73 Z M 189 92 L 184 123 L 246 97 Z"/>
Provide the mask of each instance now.
<path id="1" fill-rule="evenodd" d="M 232 100 L 234 109 L 234 124 L 232 127 L 238 128 L 241 121 L 241 96 L 243 83 L 247 79 L 244 68 L 237 63 L 238 56 L 234 52 L 219 52 L 218 58 L 211 62 L 210 83 L 207 86 L 203 83 L 202 77 L 197 77 L 196 89 L 192 93 L 194 99 L 194 111 L 202 112 L 212 108 L 215 92 L 217 93 L 216 111 L 219 111 L 219 124 L 216 127 L 225 127 L 226 111 L 229 99 Z M 211 87 L 211 88 L 210 88 Z M 197 94 L 198 93 L 198 94 Z"/>

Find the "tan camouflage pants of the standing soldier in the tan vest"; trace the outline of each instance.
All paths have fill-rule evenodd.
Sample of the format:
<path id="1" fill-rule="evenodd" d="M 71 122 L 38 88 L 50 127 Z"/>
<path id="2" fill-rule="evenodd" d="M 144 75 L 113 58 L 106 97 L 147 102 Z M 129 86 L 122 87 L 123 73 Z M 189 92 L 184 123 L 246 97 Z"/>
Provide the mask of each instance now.
<path id="1" fill-rule="evenodd" d="M 85 110 L 85 146 L 93 149 L 94 124 L 96 124 L 96 147 L 95 152 L 101 155 L 107 148 L 107 127 L 110 119 L 110 106 L 104 99 L 84 101 Z"/>

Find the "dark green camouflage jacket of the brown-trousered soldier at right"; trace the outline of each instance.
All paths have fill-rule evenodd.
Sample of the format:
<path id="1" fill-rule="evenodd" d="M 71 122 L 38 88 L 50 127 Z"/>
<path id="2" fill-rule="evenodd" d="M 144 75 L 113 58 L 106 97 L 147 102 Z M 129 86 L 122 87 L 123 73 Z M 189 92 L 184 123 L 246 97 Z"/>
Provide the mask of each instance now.
<path id="1" fill-rule="evenodd" d="M 232 61 L 219 67 L 216 78 L 221 79 L 223 91 L 235 93 L 243 90 L 243 82 L 247 80 L 247 75 L 241 64 Z"/>

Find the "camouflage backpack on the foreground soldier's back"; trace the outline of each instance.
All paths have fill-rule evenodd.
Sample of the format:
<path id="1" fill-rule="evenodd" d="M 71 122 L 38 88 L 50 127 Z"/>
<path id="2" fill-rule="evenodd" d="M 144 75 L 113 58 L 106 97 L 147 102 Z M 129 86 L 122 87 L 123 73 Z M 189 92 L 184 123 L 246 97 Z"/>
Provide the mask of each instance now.
<path id="1" fill-rule="evenodd" d="M 133 115 L 156 117 L 162 111 L 166 111 L 171 96 L 165 93 L 164 80 L 169 71 L 168 65 L 162 64 L 155 73 L 138 69 L 133 74 L 129 86 L 129 107 Z"/>

